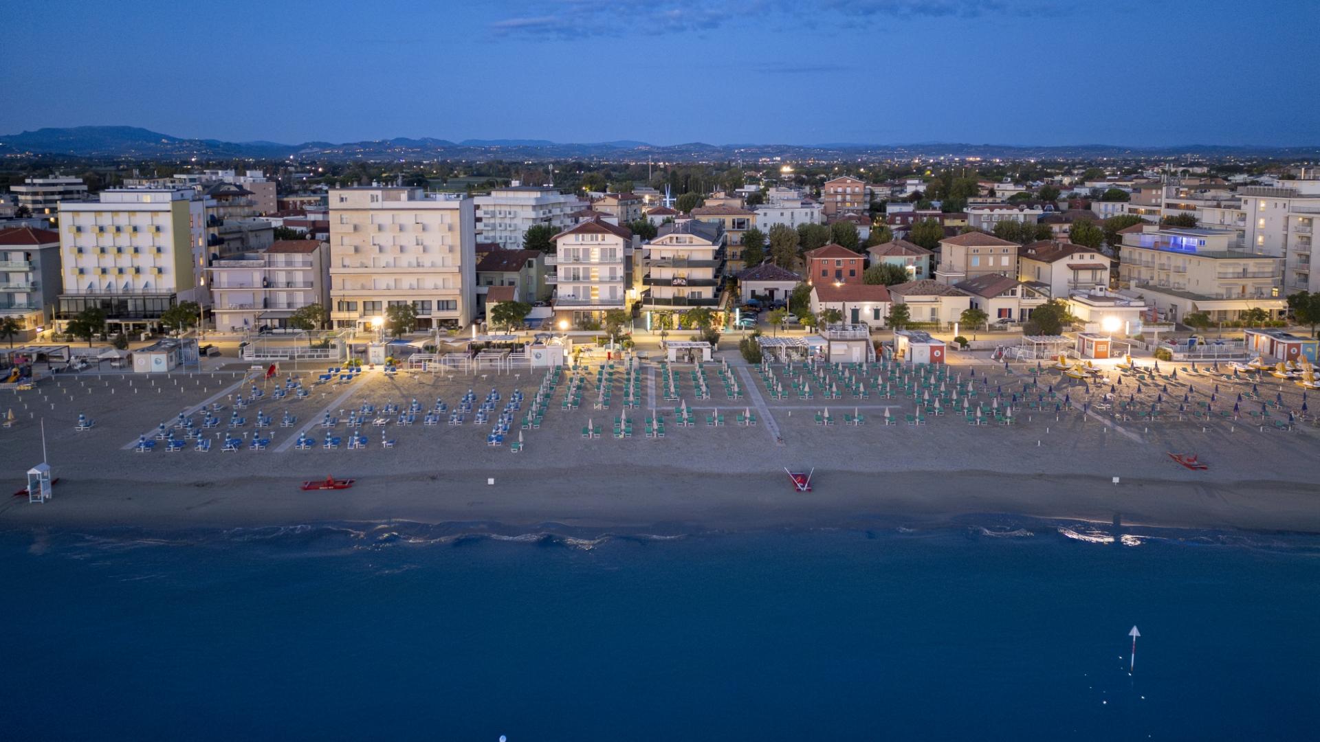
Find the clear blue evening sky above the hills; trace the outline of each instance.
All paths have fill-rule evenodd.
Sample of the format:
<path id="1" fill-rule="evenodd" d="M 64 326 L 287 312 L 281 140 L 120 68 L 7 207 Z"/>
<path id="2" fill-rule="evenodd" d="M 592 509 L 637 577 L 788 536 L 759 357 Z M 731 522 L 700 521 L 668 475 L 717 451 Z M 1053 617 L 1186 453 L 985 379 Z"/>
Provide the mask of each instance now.
<path id="1" fill-rule="evenodd" d="M 0 133 L 114 124 L 284 144 L 1320 144 L 1317 0 L 4 8 Z"/>

